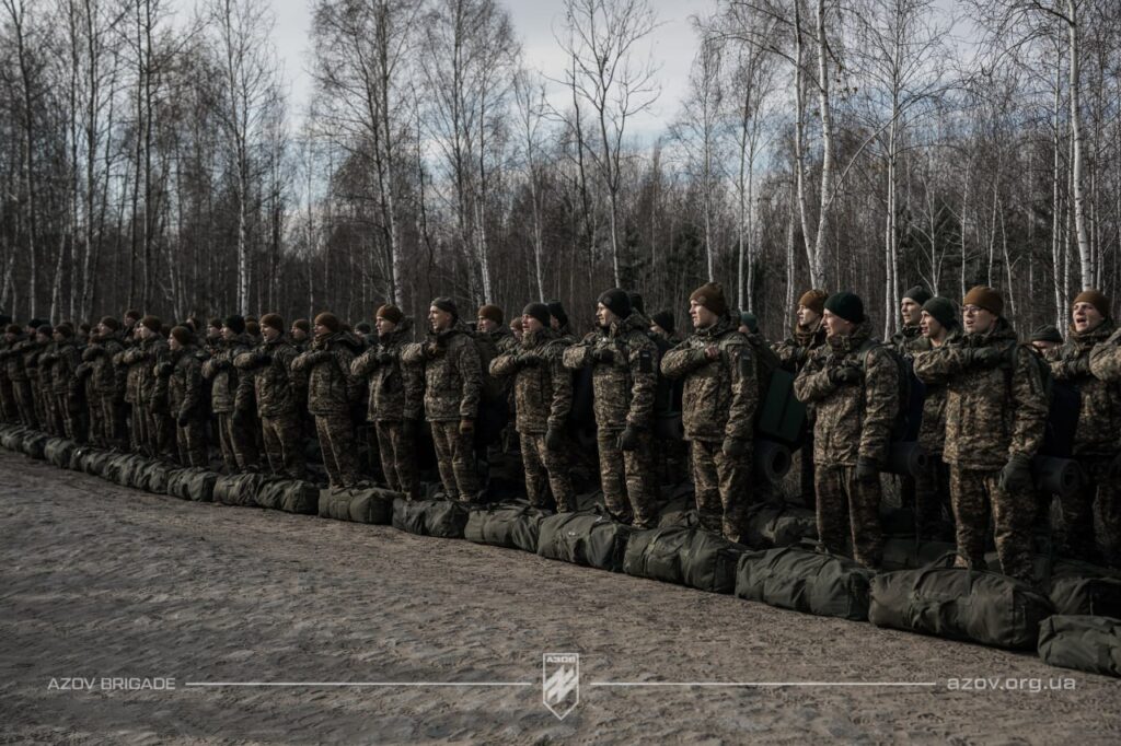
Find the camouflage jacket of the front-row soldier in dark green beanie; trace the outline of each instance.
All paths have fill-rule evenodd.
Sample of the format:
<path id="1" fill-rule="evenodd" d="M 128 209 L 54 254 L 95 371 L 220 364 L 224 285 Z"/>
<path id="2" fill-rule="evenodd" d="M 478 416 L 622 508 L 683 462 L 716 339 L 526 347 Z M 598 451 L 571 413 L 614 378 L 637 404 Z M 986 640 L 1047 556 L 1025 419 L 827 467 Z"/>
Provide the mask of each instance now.
<path id="1" fill-rule="evenodd" d="M 855 466 L 858 458 L 883 466 L 899 410 L 899 365 L 882 344 L 871 339 L 864 320 L 851 336 L 828 337 L 794 381 L 799 400 L 813 403 L 814 463 Z M 859 383 L 837 385 L 830 372 L 839 367 L 863 371 Z"/>

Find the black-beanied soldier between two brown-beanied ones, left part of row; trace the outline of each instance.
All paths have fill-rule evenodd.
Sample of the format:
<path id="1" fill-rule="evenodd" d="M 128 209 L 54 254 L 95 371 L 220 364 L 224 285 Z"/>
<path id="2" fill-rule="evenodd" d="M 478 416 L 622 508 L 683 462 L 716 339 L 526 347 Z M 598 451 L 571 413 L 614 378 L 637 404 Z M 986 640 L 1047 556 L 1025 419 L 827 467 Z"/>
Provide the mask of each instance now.
<path id="1" fill-rule="evenodd" d="M 233 365 L 238 355 L 252 347 L 253 341 L 245 334 L 245 319 L 233 314 L 222 324 L 219 348 L 203 363 L 203 377 L 211 382 L 211 411 L 217 418 L 222 461 L 230 474 L 257 470 L 259 463 L 252 404 L 243 400 L 240 403 L 244 409 L 237 409 L 238 369 Z"/>

